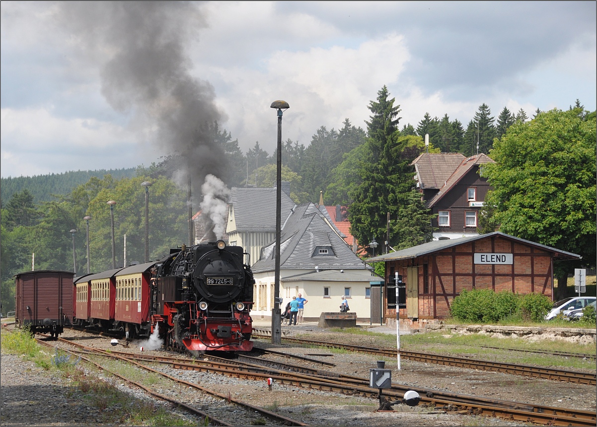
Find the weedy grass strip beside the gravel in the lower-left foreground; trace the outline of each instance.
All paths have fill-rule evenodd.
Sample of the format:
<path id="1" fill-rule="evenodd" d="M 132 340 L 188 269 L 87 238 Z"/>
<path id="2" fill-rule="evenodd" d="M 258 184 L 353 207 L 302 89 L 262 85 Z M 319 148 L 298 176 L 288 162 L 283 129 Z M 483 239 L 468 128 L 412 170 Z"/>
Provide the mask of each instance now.
<path id="1" fill-rule="evenodd" d="M 116 387 L 115 379 L 99 378 L 94 367 L 83 369 L 83 363 L 79 358 L 59 350 L 49 354 L 39 346 L 27 330 L 2 329 L 1 345 L 3 352 L 19 355 L 48 370 L 51 375 L 60 375 L 70 380 L 69 383 L 72 385 L 67 387 L 64 397 L 73 400 L 82 399 L 87 406 L 97 408 L 102 423 L 139 426 L 195 425 L 190 420 L 171 413 L 165 407 L 139 400 L 120 391 Z M 143 378 L 144 382 L 149 384 L 155 382 L 152 375 L 131 370 L 130 367 L 124 367 L 123 372 L 125 375 L 130 373 L 136 378 Z M 155 374 L 153 376 L 156 377 Z M 205 422 L 208 423 L 208 420 Z"/>

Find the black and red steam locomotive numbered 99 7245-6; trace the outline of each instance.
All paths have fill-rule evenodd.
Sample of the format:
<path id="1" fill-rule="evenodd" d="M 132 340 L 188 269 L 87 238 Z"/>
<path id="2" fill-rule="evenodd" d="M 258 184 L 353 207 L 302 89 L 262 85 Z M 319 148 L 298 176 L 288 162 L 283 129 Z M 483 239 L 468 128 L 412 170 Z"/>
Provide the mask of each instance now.
<path id="1" fill-rule="evenodd" d="M 255 280 L 242 247 L 219 240 L 172 252 L 156 264 L 152 330 L 194 355 L 250 351 Z"/>

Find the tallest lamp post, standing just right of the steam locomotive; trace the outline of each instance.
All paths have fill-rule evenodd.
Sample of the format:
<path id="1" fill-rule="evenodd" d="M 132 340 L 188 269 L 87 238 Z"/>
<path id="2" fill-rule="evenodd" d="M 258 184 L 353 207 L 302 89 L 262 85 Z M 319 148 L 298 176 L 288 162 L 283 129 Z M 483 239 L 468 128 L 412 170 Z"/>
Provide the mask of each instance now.
<path id="1" fill-rule="evenodd" d="M 278 110 L 278 156 L 276 159 L 276 270 L 273 284 L 272 344 L 282 344 L 280 310 L 280 240 L 282 234 L 282 113 L 290 106 L 286 101 L 273 101 L 270 106 Z"/>

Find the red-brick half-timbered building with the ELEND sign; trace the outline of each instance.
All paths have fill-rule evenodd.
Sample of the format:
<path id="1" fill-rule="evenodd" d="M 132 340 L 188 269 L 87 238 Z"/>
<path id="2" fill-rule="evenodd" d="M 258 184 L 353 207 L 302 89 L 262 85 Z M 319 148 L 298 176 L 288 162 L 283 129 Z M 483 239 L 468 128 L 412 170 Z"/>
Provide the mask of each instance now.
<path id="1" fill-rule="evenodd" d="M 385 283 L 379 292 L 385 323 L 395 326 L 396 310 L 387 309 L 387 283 L 396 272 L 407 290 L 401 324 L 417 329 L 450 316 L 450 305 L 463 289 L 543 293 L 553 299 L 553 261 L 580 259 L 580 255 L 509 234 L 494 233 L 460 239 L 434 240 L 367 260 L 386 263 Z"/>

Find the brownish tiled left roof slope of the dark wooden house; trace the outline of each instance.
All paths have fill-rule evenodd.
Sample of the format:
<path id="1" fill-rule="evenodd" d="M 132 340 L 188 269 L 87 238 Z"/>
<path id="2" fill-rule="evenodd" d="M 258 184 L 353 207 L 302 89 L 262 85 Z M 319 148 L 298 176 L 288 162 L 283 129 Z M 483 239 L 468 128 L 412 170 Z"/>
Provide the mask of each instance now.
<path id="1" fill-rule="evenodd" d="M 442 188 L 460 163 L 466 159 L 460 153 L 423 153 L 413 160 L 421 190 Z"/>

